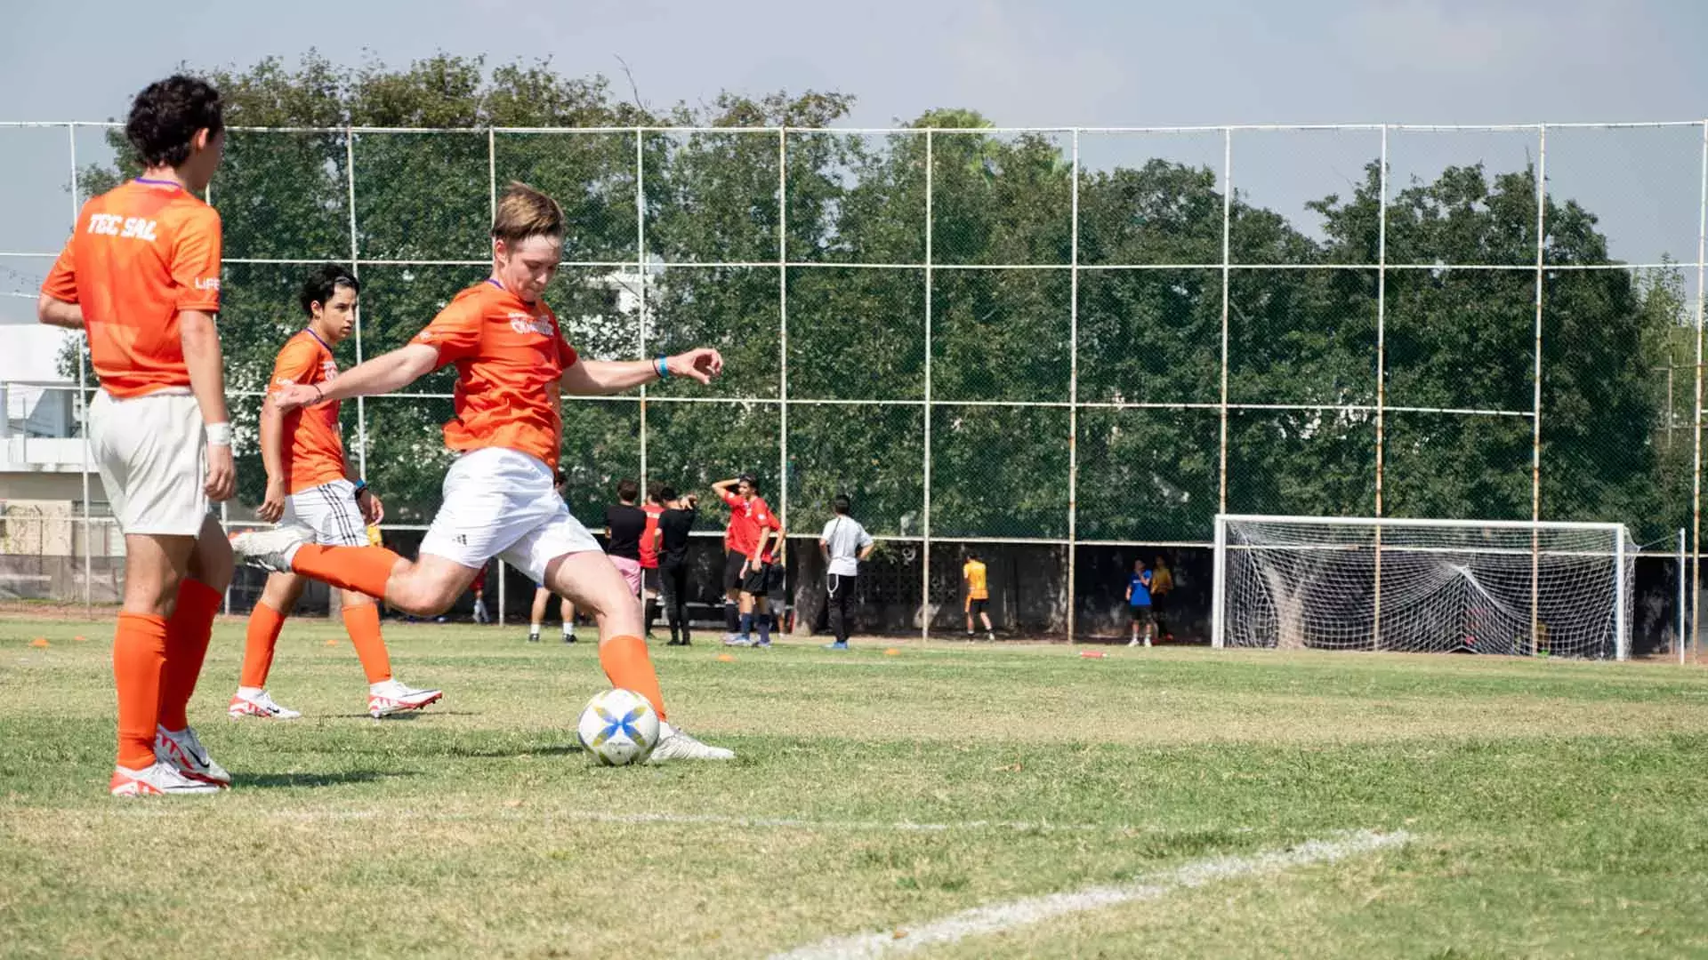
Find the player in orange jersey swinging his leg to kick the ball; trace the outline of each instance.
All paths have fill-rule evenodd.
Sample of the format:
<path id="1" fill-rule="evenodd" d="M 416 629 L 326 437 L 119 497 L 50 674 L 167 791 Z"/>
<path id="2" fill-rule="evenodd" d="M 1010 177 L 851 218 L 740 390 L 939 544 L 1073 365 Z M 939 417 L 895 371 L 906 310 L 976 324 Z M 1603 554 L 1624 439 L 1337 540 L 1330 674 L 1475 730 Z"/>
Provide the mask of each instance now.
<path id="1" fill-rule="evenodd" d="M 499 198 L 492 220 L 492 275 L 458 294 L 415 338 L 359 364 L 330 384 L 280 391 L 280 410 L 401 389 L 454 364 L 454 419 L 446 446 L 458 451 L 444 478 L 444 502 L 410 562 L 383 547 L 311 543 L 301 528 L 232 538 L 246 564 L 304 574 L 410 613 L 451 606 L 492 557 L 569 598 L 600 627 L 600 664 L 613 687 L 646 697 L 666 717 L 658 673 L 640 639 L 640 605 L 552 483 L 562 444 L 564 391 L 610 395 L 668 376 L 699 383 L 722 371 L 717 350 L 697 348 L 656 360 L 582 360 L 541 302 L 564 251 L 564 210 L 523 184 Z M 676 726 L 659 724 L 649 762 L 728 760 Z"/>

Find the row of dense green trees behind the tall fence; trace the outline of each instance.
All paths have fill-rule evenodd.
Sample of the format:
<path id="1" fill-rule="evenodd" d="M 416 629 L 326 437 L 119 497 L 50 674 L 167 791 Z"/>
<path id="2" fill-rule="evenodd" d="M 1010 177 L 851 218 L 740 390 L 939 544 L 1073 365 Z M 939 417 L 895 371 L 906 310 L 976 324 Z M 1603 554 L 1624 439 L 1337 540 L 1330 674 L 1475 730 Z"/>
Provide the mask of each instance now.
<path id="1" fill-rule="evenodd" d="M 1086 538 L 1201 540 L 1223 495 L 1233 511 L 1368 514 L 1378 395 L 1387 512 L 1530 516 L 1532 169 L 1448 167 L 1431 183 L 1392 184 L 1390 268 L 1378 278 L 1325 268 L 1380 256 L 1375 162 L 1344 196 L 1310 203 L 1322 219 L 1310 236 L 1243 195 L 1225 198 L 1209 169 L 1148 159 L 1081 171 L 1074 184 L 1064 140 L 987 133 L 965 109 L 931 111 L 893 135 L 842 133 L 823 130 L 852 104 L 842 94 L 722 94 L 654 109 L 550 61 L 451 55 L 391 68 L 311 51 L 294 68 L 263 60 L 210 77 L 234 126 L 331 128 L 231 132 L 212 186 L 229 260 L 355 251 L 408 261 L 362 266 L 362 342 L 343 347 L 343 362 L 407 342 L 485 275 L 492 188 L 509 179 L 548 190 L 569 215 L 570 265 L 548 302 L 584 355 L 724 352 L 712 388 L 658 384 L 644 410 L 637 398 L 565 401 L 564 463 L 586 519 L 601 516 L 617 478 L 640 471 L 644 422 L 651 477 L 693 489 L 753 470 L 774 500 L 787 485 L 796 530 L 852 492 L 874 533 L 919 535 L 927 393 L 945 403 L 931 413 L 936 535 L 1064 536 L 1069 500 Z M 352 140 L 348 125 L 436 132 Z M 622 130 L 632 126 L 658 130 Z M 132 173 L 121 161 L 82 176 L 101 190 Z M 1694 362 L 1681 280 L 1566 270 L 1609 265 L 1607 241 L 1570 198 L 1549 196 L 1542 214 L 1542 516 L 1621 519 L 1658 536 L 1689 514 L 1689 444 L 1662 429 L 1689 412 L 1689 378 L 1676 376 L 1669 410 L 1657 372 Z M 1076 241 L 1090 266 L 1078 273 L 1078 354 Z M 1231 263 L 1279 268 L 1206 268 L 1225 243 Z M 915 265 L 927 253 L 929 285 L 921 266 L 852 266 Z M 779 272 L 779 256 L 799 266 Z M 301 323 L 299 272 L 227 263 L 220 328 L 234 391 L 261 388 Z M 1059 403 L 1071 384 L 1098 407 L 1076 417 L 1001 407 Z M 441 371 L 413 389 L 449 386 Z M 784 417 L 784 386 L 813 403 Z M 1213 410 L 1223 395 L 1266 407 L 1228 417 L 1225 487 Z M 1148 407 L 1122 408 L 1134 403 Z M 393 519 L 424 521 L 439 499 L 447 403 L 364 407 L 366 430 L 350 420 L 355 405 L 345 410 L 352 458 L 366 458 Z M 254 408 L 253 396 L 234 403 L 244 441 Z M 239 489 L 253 502 L 260 460 L 253 442 L 241 449 Z M 717 523 L 716 509 L 705 516 Z"/>

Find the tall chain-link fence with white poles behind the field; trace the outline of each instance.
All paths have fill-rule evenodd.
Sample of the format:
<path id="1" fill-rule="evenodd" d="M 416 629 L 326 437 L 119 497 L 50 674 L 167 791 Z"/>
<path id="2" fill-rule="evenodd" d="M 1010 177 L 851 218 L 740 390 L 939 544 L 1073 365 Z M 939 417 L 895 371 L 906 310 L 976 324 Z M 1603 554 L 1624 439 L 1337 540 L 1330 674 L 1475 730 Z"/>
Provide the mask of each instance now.
<path id="1" fill-rule="evenodd" d="M 109 137 L 0 125 L 24 171 L 0 319 L 32 318 L 77 200 L 132 173 Z M 306 270 L 362 278 L 345 362 L 398 347 L 485 275 L 511 179 L 569 215 L 547 301 L 584 355 L 728 362 L 565 400 L 576 514 L 603 524 L 622 477 L 753 471 L 804 536 L 804 601 L 847 492 L 890 629 L 953 629 L 968 550 L 1027 632 L 1108 629 L 1134 557 L 1190 606 L 1216 512 L 1621 521 L 1669 553 L 1698 528 L 1705 123 L 234 128 L 210 190 L 234 523 Z M 449 386 L 343 408 L 398 536 L 437 507 Z M 99 492 L 65 499 L 96 523 Z M 99 593 L 79 576 L 53 593 Z"/>

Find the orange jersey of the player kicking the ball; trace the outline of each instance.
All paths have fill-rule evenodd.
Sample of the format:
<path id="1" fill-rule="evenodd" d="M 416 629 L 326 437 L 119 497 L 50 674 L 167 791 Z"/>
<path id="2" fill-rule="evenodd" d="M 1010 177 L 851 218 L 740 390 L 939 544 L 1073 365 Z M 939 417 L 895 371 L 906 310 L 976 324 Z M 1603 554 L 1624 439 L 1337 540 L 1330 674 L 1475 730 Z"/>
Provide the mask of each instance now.
<path id="1" fill-rule="evenodd" d="M 456 417 L 444 425 L 444 446 L 509 448 L 557 466 L 559 378 L 576 364 L 576 348 L 550 307 L 482 280 L 439 311 L 415 343 L 437 347 L 441 364 L 456 364 Z"/>

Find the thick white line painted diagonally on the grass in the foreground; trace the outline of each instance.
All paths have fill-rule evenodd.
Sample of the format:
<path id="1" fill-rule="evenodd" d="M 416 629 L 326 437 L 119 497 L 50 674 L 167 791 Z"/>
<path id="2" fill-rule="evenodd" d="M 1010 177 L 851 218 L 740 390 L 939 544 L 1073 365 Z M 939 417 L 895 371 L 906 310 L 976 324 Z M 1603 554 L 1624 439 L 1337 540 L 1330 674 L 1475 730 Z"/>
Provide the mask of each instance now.
<path id="1" fill-rule="evenodd" d="M 1401 846 L 1407 840 L 1411 840 L 1411 835 L 1404 832 L 1377 834 L 1360 830 L 1339 839 L 1308 840 L 1284 851 L 1201 859 L 1119 887 L 1085 887 L 1068 893 L 1027 897 L 1006 904 L 974 907 L 917 926 L 905 924 L 893 931 L 835 936 L 786 953 L 774 953 L 772 960 L 844 960 L 910 953 L 922 946 L 956 943 L 968 936 L 1003 933 L 1115 904 L 1158 900 L 1177 890 L 1206 887 L 1220 880 L 1237 880 L 1259 873 L 1279 873 L 1298 866 L 1334 863 L 1383 847 Z"/>

